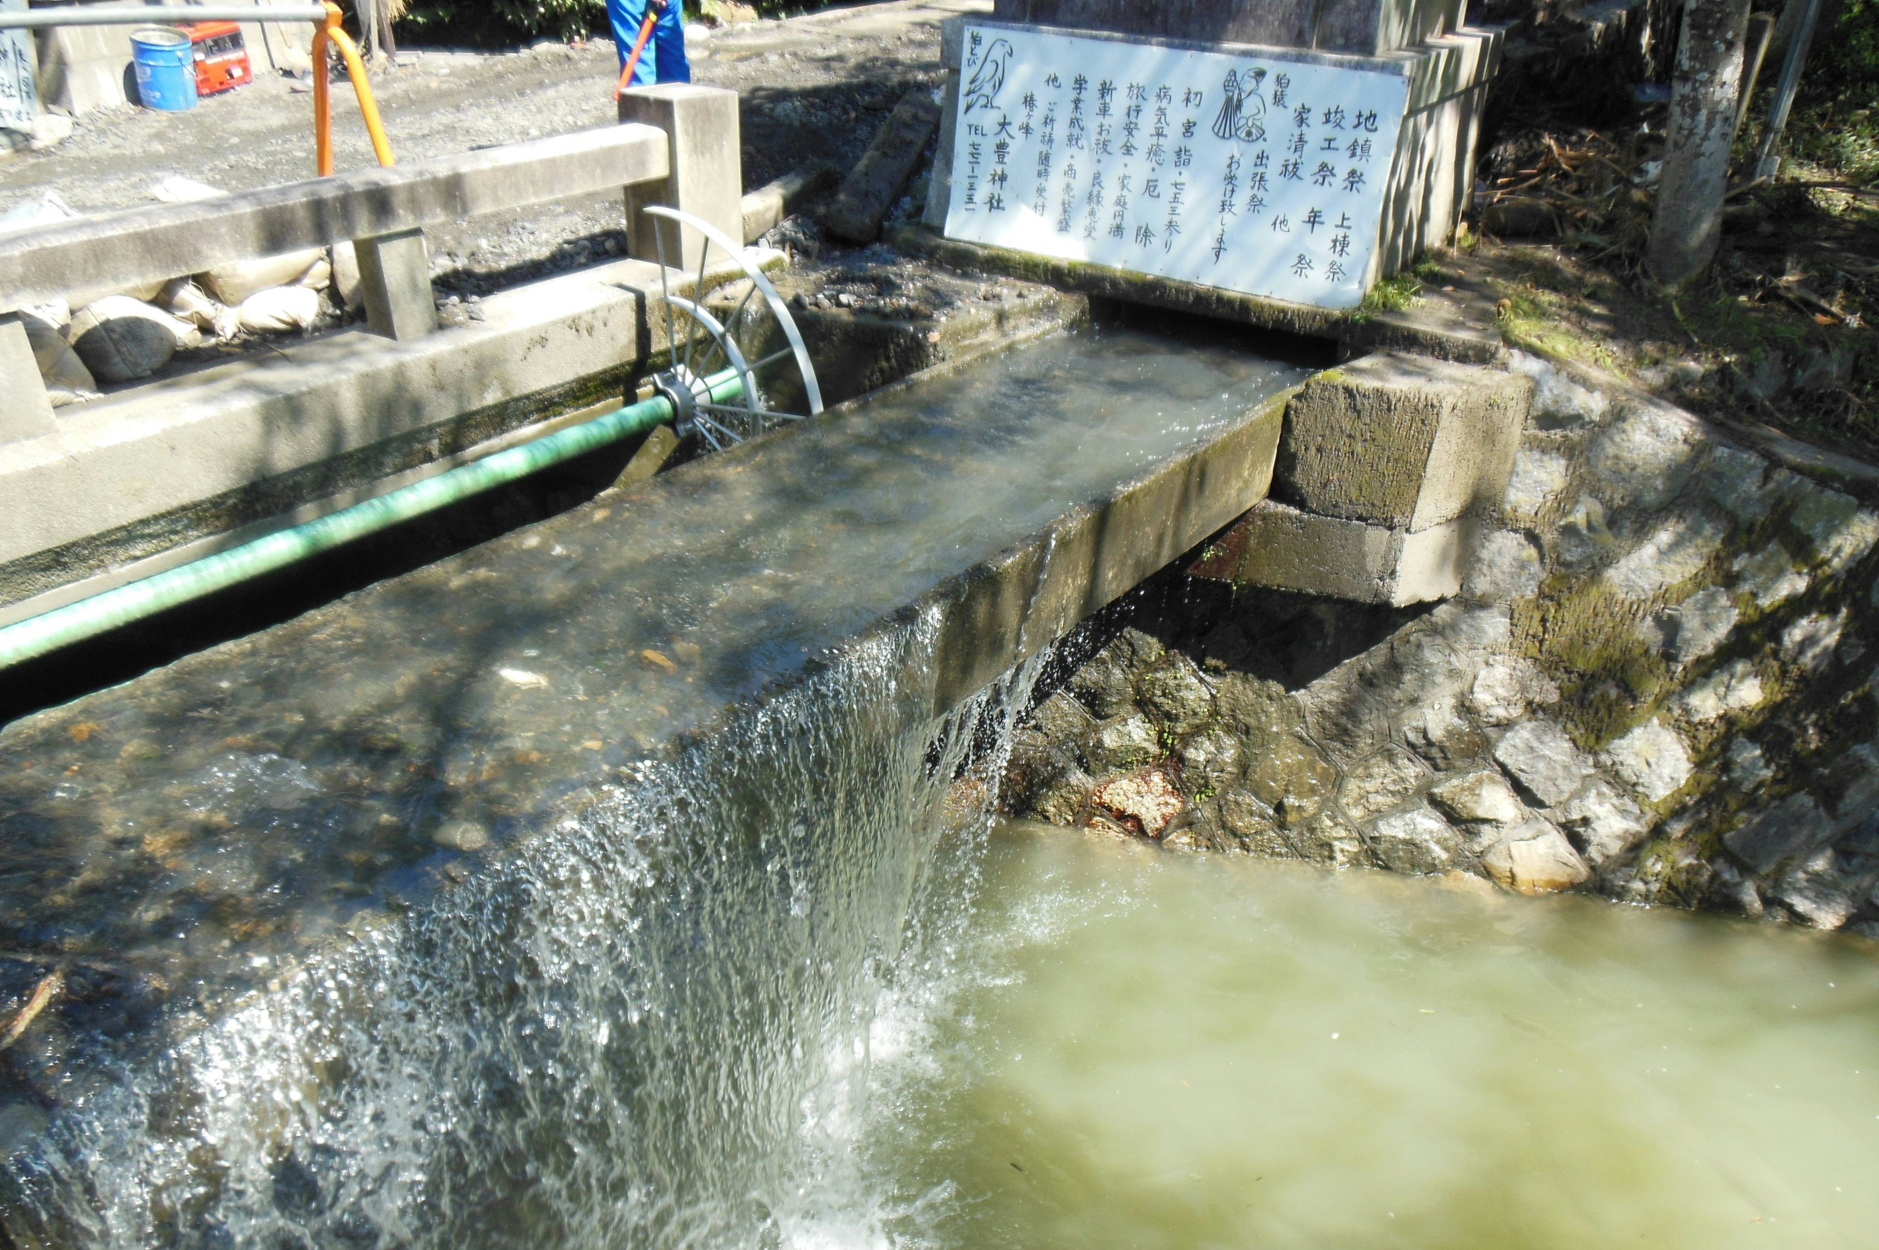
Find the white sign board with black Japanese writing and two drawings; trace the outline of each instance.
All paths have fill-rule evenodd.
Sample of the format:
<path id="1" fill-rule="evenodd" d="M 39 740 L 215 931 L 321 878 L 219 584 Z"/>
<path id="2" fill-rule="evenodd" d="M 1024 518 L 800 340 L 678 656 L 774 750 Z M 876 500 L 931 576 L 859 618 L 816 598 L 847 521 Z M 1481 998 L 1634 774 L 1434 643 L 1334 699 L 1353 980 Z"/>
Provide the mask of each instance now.
<path id="1" fill-rule="evenodd" d="M 949 239 L 1355 308 L 1409 81 L 968 26 Z"/>

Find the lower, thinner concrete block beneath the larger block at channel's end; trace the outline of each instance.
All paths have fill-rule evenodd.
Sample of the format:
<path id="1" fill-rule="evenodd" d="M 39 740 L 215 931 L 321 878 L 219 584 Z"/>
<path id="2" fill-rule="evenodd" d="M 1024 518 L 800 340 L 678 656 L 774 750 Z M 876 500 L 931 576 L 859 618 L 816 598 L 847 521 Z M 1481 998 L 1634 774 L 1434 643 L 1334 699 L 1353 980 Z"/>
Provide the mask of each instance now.
<path id="1" fill-rule="evenodd" d="M 1426 603 L 1462 588 L 1479 524 L 1456 517 L 1421 534 L 1263 502 L 1221 539 L 1236 566 L 1197 564 L 1197 577 L 1325 594 L 1359 603 Z"/>

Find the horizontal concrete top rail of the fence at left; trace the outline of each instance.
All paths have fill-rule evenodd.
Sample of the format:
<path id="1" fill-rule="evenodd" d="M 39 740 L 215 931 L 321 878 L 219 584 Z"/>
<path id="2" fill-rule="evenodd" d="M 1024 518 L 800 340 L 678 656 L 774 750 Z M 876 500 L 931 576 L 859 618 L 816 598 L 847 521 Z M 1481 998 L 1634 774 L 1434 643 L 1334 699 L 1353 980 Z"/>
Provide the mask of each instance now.
<path id="1" fill-rule="evenodd" d="M 49 299 L 79 305 L 227 261 L 656 182 L 669 171 L 665 133 L 624 124 L 41 226 L 0 237 L 0 312 Z"/>

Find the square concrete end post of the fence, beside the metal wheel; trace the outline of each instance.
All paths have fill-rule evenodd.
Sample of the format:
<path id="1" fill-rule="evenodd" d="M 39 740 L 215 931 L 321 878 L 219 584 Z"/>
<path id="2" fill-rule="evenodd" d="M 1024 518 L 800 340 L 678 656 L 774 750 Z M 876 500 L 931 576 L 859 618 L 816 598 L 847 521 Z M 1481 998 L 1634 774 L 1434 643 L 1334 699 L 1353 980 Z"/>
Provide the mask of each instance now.
<path id="1" fill-rule="evenodd" d="M 663 182 L 626 188 L 628 252 L 644 261 L 660 259 L 665 231 L 665 263 L 695 269 L 705 237 L 693 229 L 676 237 L 671 222 L 641 209 L 667 205 L 705 218 L 731 239 L 744 237 L 744 164 L 737 122 L 737 92 L 691 83 L 633 86 L 620 96 L 620 120 L 644 122 L 665 132 L 671 143 L 671 175 Z"/>

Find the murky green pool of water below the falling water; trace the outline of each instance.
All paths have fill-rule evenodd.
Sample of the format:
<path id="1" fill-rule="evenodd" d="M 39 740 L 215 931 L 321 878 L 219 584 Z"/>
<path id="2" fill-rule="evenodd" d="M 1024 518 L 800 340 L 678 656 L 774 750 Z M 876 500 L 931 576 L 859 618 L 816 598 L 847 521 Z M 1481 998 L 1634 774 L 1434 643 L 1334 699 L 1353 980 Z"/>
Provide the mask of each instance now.
<path id="1" fill-rule="evenodd" d="M 992 836 L 797 1244 L 1871 1246 L 1879 953 L 1590 898 Z"/>

